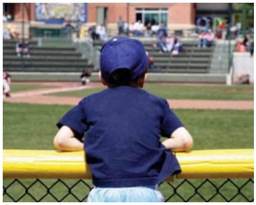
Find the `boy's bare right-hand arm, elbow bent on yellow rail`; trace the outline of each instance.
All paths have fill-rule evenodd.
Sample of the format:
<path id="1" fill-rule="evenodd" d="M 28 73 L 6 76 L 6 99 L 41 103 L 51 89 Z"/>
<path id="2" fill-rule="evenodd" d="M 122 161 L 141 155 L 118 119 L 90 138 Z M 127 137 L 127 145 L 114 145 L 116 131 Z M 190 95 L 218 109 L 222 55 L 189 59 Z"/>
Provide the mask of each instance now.
<path id="1" fill-rule="evenodd" d="M 170 151 L 188 151 L 193 147 L 193 138 L 185 127 L 179 127 L 172 133 L 170 138 L 164 140 L 162 144 Z"/>

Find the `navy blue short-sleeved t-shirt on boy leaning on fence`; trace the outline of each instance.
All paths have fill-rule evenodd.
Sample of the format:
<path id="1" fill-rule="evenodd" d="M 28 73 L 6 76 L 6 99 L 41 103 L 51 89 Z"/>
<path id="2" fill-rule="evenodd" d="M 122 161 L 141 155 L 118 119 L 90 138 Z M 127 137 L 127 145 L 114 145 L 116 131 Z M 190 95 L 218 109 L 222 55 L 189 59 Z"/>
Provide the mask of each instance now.
<path id="1" fill-rule="evenodd" d="M 155 185 L 181 171 L 159 139 L 183 127 L 163 98 L 120 86 L 83 98 L 59 120 L 84 136 L 86 162 L 99 187 Z"/>

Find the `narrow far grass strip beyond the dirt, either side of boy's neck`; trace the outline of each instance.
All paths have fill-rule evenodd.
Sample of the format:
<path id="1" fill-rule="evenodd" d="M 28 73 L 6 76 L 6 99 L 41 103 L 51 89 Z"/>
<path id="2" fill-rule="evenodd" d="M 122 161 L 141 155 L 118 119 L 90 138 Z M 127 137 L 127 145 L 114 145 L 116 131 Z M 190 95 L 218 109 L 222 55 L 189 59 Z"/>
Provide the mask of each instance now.
<path id="1" fill-rule="evenodd" d="M 55 96 L 88 96 L 104 88 L 86 89 L 81 91 L 61 92 Z M 253 100 L 254 87 L 248 85 L 170 85 L 147 83 L 144 87 L 151 94 L 168 99 L 197 99 L 197 100 Z"/>

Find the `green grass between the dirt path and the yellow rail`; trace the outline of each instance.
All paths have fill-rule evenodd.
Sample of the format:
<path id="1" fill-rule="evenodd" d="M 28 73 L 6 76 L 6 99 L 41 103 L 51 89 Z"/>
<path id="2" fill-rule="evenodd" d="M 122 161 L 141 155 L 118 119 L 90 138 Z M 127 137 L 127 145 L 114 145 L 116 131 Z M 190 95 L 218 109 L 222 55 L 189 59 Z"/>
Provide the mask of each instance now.
<path id="1" fill-rule="evenodd" d="M 56 122 L 71 106 L 3 103 L 3 149 L 53 149 Z M 177 109 L 194 149 L 253 148 L 253 110 Z"/>

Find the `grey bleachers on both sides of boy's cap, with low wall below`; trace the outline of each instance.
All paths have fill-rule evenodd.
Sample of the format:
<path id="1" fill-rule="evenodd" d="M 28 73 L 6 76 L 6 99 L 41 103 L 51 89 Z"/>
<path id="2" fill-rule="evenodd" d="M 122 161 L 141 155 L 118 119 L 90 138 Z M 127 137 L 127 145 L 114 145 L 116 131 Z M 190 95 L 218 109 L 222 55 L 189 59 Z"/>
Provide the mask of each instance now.
<path id="1" fill-rule="evenodd" d="M 226 82 L 226 75 L 210 72 L 215 47 L 201 48 L 197 47 L 196 40 L 181 39 L 183 51 L 173 56 L 167 52 L 159 53 L 159 50 L 152 46 L 155 43 L 152 39 L 140 40 L 155 60 L 155 70 L 149 71 L 148 80 Z M 92 72 L 92 80 L 98 80 L 99 52 L 96 50 L 99 50 L 104 42 L 95 41 L 93 45 L 86 47 L 90 42 L 76 44 L 68 39 L 41 39 L 41 42 L 40 39 L 30 40 L 30 58 L 16 55 L 16 43 L 14 40 L 3 40 L 3 69 L 11 72 L 13 80 L 78 80 L 83 69 L 89 69 Z M 53 73 L 55 74 L 48 75 Z"/>

